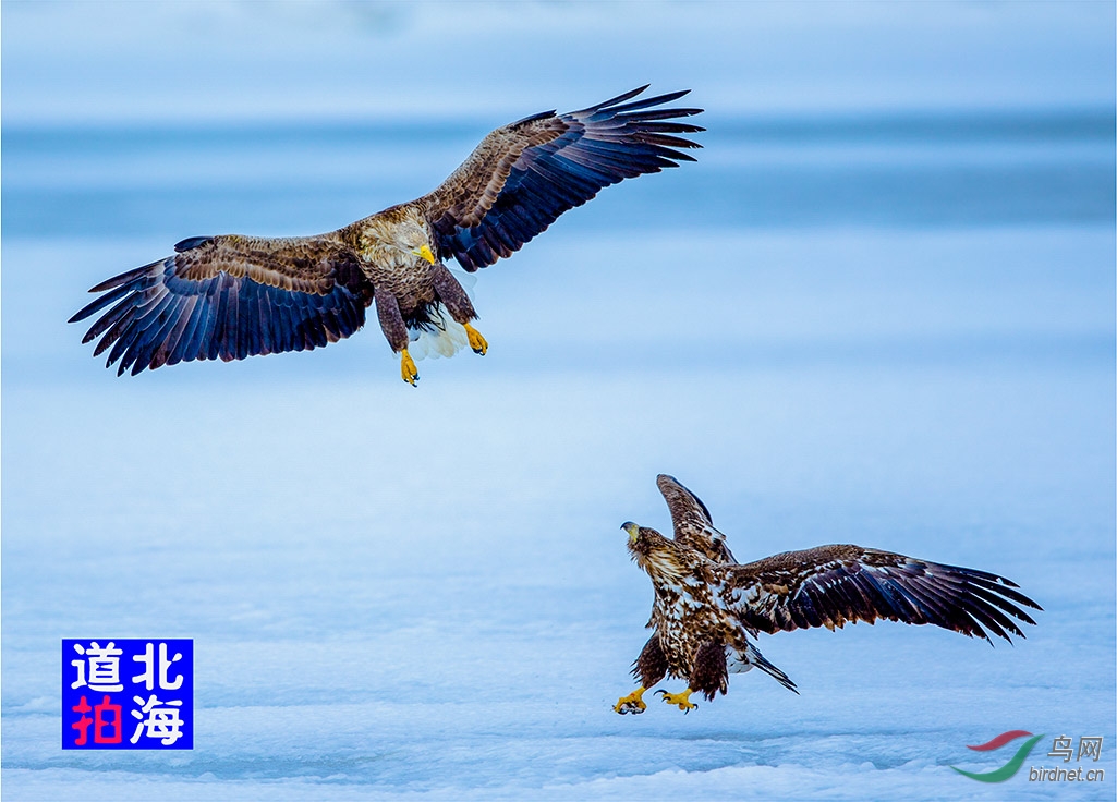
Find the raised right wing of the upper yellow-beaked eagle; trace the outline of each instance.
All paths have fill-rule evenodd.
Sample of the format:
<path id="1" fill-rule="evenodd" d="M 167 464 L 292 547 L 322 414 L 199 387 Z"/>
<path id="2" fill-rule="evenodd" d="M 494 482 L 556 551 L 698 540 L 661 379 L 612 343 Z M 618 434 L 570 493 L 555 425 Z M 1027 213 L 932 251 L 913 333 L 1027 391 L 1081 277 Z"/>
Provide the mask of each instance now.
<path id="1" fill-rule="evenodd" d="M 687 92 L 624 103 L 647 88 L 580 112 L 543 112 L 486 136 L 441 187 L 414 201 L 439 256 L 472 273 L 510 256 L 603 187 L 694 161 L 677 149 L 700 145 L 677 134 L 704 128 L 671 121 L 701 109 L 653 108 Z"/>

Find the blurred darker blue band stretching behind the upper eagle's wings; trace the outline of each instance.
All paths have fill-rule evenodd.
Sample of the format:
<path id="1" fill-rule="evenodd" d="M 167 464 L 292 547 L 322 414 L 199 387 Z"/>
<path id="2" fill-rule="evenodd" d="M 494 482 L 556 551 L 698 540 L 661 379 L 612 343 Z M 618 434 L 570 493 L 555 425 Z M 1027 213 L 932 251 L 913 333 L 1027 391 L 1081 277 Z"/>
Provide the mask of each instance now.
<path id="1" fill-rule="evenodd" d="M 639 229 L 665 207 L 687 228 L 1114 217 L 1110 109 L 701 122 L 710 131 L 697 165 L 605 193 L 603 211 L 564 225 Z M 429 191 L 485 133 L 484 123 L 9 126 L 4 233 L 309 233 Z M 688 202 L 670 203 L 680 195 Z"/>

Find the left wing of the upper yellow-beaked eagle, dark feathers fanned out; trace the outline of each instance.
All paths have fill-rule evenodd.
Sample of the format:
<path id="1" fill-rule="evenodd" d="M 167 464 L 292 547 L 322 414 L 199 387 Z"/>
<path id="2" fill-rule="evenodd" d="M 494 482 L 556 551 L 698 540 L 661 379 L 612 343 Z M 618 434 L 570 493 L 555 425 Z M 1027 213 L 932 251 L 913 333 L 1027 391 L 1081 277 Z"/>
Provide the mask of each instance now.
<path id="1" fill-rule="evenodd" d="M 174 256 L 98 284 L 70 318 L 104 312 L 83 342 L 120 360 L 117 375 L 190 360 L 226 362 L 336 342 L 364 324 L 372 286 L 326 237 L 195 237 Z"/>

